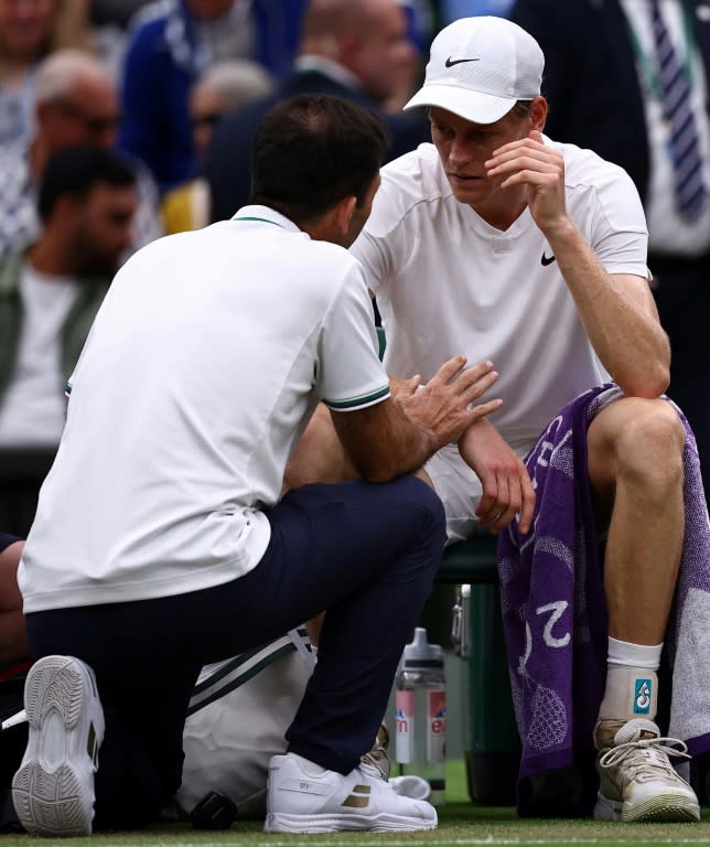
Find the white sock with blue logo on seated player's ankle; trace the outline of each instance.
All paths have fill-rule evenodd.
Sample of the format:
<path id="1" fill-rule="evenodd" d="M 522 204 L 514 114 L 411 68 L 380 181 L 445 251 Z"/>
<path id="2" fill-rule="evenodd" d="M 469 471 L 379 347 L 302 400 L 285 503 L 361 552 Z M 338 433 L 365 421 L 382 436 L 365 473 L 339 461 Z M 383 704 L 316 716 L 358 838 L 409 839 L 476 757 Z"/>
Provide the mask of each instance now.
<path id="1" fill-rule="evenodd" d="M 663 644 L 647 646 L 609 639 L 606 688 L 598 720 L 656 717 Z"/>

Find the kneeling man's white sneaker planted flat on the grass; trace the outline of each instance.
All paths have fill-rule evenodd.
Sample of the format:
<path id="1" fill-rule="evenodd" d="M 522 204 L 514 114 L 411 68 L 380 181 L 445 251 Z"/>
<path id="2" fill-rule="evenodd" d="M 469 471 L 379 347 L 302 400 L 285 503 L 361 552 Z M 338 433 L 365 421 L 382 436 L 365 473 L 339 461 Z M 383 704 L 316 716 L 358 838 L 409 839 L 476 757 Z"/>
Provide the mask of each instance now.
<path id="1" fill-rule="evenodd" d="M 435 829 L 437 810 L 398 796 L 377 770 L 361 763 L 346 776 L 295 753 L 269 763 L 267 833 L 392 833 Z"/>

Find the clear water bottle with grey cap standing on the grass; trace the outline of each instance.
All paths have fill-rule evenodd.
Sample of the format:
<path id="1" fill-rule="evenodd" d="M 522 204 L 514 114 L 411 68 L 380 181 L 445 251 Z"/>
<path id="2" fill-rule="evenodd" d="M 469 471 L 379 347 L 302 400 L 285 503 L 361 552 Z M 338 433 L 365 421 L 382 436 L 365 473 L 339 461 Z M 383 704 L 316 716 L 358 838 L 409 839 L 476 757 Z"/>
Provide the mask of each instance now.
<path id="1" fill-rule="evenodd" d="M 430 802 L 445 802 L 447 689 L 443 650 L 430 644 L 418 626 L 407 644 L 396 679 L 395 758 L 402 774 L 413 773 L 431 786 Z"/>

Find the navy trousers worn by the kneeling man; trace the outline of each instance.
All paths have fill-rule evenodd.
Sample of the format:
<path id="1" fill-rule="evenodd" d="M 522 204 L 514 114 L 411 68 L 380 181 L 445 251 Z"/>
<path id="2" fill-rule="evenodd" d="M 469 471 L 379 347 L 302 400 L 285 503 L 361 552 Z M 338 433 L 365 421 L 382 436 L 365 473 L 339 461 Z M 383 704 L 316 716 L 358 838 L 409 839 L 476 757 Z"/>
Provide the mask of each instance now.
<path id="1" fill-rule="evenodd" d="M 287 733 L 289 749 L 348 773 L 372 747 L 441 561 L 441 502 L 404 476 L 384 485 L 308 485 L 268 516 L 263 558 L 232 582 L 28 615 L 35 658 L 73 655 L 96 673 L 106 717 L 96 828 L 144 825 L 179 787 L 185 714 L 202 665 L 321 611 L 319 660 Z"/>

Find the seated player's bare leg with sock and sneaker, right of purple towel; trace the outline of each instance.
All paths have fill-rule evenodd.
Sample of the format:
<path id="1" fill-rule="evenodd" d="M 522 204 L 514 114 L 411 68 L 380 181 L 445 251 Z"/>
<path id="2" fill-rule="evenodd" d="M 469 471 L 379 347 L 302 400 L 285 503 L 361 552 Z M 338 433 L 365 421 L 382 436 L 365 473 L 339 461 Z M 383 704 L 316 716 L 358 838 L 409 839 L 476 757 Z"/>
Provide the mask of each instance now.
<path id="1" fill-rule="evenodd" d="M 665 400 L 624 398 L 591 422 L 588 467 L 598 518 L 609 526 L 606 688 L 595 729 L 605 819 L 698 819 L 654 723 L 664 633 L 682 540 L 685 431 Z"/>

